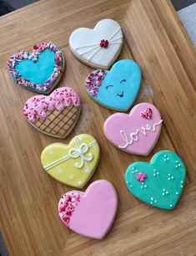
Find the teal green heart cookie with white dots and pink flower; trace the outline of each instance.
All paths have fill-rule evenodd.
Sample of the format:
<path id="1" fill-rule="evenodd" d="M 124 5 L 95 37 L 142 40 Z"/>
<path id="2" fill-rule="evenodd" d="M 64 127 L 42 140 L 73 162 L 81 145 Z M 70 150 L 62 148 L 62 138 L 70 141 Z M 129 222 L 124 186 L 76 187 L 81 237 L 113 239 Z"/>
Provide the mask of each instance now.
<path id="1" fill-rule="evenodd" d="M 133 196 L 153 207 L 173 209 L 183 191 L 186 166 L 173 151 L 159 151 L 151 161 L 133 162 L 125 182 Z"/>

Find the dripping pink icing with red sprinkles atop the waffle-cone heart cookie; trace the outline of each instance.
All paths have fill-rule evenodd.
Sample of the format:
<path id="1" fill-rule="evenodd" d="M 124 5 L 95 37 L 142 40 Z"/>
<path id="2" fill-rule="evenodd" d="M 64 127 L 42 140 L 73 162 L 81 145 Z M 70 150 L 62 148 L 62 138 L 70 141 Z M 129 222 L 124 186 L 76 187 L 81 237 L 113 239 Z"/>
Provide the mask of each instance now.
<path id="1" fill-rule="evenodd" d="M 70 87 L 60 87 L 48 96 L 36 95 L 28 99 L 23 107 L 23 115 L 34 123 L 38 120 L 38 117 L 46 120 L 48 110 L 57 109 L 62 111 L 72 104 L 75 106 L 80 105 L 78 94 Z"/>

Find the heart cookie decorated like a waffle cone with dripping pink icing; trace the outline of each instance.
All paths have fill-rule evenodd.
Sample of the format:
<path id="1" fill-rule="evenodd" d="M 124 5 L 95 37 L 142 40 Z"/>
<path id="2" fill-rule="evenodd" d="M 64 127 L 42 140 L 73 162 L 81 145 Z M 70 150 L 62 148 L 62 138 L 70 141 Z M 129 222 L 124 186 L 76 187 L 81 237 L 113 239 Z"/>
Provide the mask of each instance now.
<path id="1" fill-rule="evenodd" d="M 80 114 L 80 99 L 70 87 L 61 87 L 51 95 L 28 99 L 23 115 L 38 131 L 65 138 L 73 130 Z"/>

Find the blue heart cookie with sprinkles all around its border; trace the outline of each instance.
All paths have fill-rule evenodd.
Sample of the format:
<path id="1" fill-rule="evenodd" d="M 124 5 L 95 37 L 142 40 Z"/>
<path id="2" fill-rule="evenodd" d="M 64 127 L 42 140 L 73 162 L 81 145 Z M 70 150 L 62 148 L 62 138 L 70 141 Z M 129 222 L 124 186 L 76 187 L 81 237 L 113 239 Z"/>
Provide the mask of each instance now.
<path id="1" fill-rule="evenodd" d="M 49 94 L 64 69 L 63 52 L 55 44 L 33 46 L 33 53 L 20 51 L 8 59 L 8 70 L 18 84 L 38 93 Z"/>

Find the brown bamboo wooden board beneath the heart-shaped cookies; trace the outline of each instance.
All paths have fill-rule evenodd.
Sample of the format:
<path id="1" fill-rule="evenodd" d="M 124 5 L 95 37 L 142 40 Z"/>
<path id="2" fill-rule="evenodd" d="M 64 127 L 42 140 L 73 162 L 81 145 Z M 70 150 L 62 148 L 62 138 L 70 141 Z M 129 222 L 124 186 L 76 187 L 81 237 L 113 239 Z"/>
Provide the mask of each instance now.
<path id="1" fill-rule="evenodd" d="M 113 18 L 123 28 L 120 59 L 135 59 L 142 67 L 137 102 L 153 102 L 163 116 L 160 139 L 148 157 L 119 151 L 103 136 L 103 122 L 113 111 L 90 100 L 84 79 L 92 69 L 75 59 L 68 48 L 73 29 L 93 28 L 102 18 Z M 0 35 L 0 217 L 8 253 L 195 255 L 196 61 L 193 44 L 172 4 L 167 0 L 41 1 L 0 18 Z M 6 61 L 12 54 L 44 41 L 63 49 L 66 72 L 59 85 L 73 86 L 83 101 L 78 125 L 65 140 L 45 136 L 24 120 L 23 103 L 33 92 L 16 85 L 8 74 Z M 95 136 L 102 150 L 90 182 L 105 178 L 118 191 L 118 215 L 103 241 L 83 238 L 63 225 L 58 199 L 71 187 L 49 177 L 40 163 L 45 146 L 55 141 L 68 143 L 79 133 Z M 183 196 L 171 212 L 138 201 L 124 184 L 124 172 L 131 162 L 149 161 L 165 149 L 182 156 L 188 171 Z"/>

